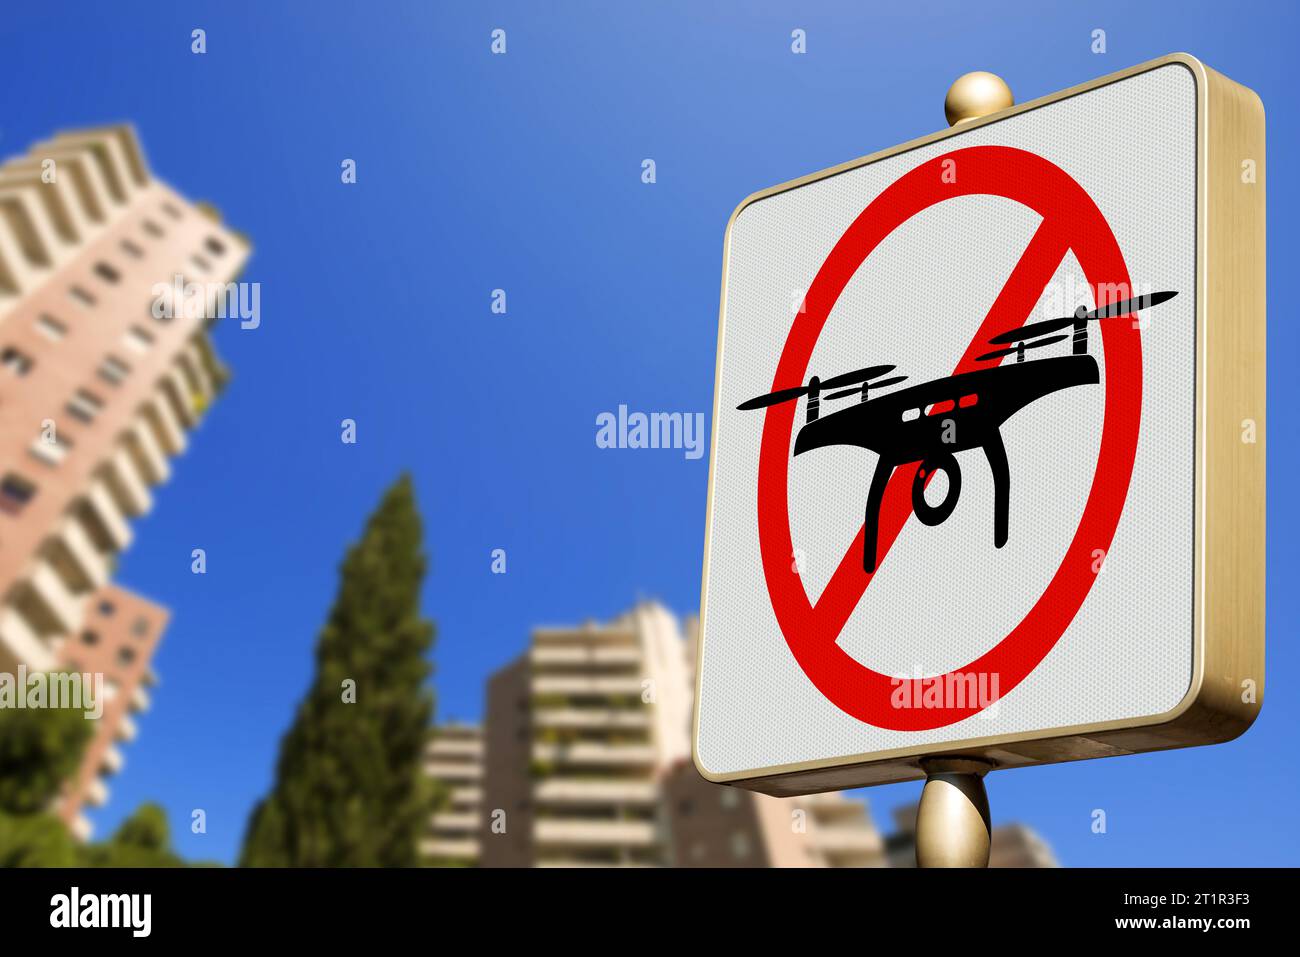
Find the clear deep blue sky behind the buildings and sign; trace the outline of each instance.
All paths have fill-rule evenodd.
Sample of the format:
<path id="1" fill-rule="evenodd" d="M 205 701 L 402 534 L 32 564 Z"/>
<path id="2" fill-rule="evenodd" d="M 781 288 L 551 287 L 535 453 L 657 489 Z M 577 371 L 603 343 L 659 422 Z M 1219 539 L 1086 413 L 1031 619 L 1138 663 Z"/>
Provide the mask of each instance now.
<path id="1" fill-rule="evenodd" d="M 1050 7 L 1052 9 L 1040 9 Z M 61 9 L 66 8 L 66 9 Z M 706 9 L 707 8 L 707 9 Z M 711 407 L 727 217 L 770 186 L 944 126 L 961 73 L 1027 100 L 1188 51 L 1269 112 L 1269 267 L 1296 257 L 1290 4 L 186 3 L 6 10 L 0 153 L 131 120 L 255 243 L 256 330 L 157 490 L 121 580 L 174 610 L 100 833 L 143 800 L 231 861 L 307 687 L 337 566 L 410 469 L 439 716 L 540 623 L 699 599 L 707 456 L 604 451 L 594 417 Z M 1000 13 L 993 13 L 1000 10 Z M 208 52 L 190 52 L 207 30 Z M 489 53 L 507 30 L 508 53 Z M 793 56 L 789 35 L 807 31 Z M 1105 29 L 1108 52 L 1089 49 Z M 1128 131 L 1136 140 L 1141 130 Z M 1122 139 L 1122 138 L 1121 138 Z M 1091 144 L 1080 144 L 1088 148 Z M 1106 147 L 1106 143 L 1098 143 Z M 358 163 L 342 186 L 339 164 Z M 641 183 L 653 157 L 658 182 Z M 508 313 L 493 315 L 491 290 Z M 1295 865 L 1297 326 L 1271 283 L 1268 705 L 1238 741 L 989 779 L 1070 865 Z M 339 442 L 339 421 L 359 441 Z M 1279 485 L 1279 481 L 1282 482 Z M 1278 494 L 1278 489 L 1283 494 Z M 203 547 L 208 573 L 190 573 Z M 508 573 L 490 573 L 503 547 Z M 919 784 L 866 792 L 884 826 Z M 208 831 L 188 831 L 190 811 Z M 1108 811 L 1106 835 L 1091 811 Z"/>

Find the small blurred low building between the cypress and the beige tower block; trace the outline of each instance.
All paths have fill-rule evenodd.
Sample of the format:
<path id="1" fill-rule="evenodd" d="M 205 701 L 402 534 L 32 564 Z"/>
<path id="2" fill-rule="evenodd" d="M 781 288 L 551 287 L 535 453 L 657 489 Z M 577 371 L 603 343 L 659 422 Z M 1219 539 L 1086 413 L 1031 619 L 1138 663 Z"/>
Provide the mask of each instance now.
<path id="1" fill-rule="evenodd" d="M 429 820 L 420 845 L 426 863 L 471 866 L 478 863 L 484 742 L 477 726 L 438 726 L 425 752 L 425 772 L 442 787 L 439 807 Z"/>

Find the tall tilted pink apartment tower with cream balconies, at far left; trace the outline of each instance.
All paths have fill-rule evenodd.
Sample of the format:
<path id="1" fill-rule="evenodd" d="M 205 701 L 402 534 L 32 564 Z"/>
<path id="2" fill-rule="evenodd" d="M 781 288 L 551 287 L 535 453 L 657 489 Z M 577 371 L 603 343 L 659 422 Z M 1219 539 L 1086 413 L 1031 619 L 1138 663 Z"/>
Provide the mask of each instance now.
<path id="1" fill-rule="evenodd" d="M 109 580 L 225 380 L 205 316 L 247 256 L 150 174 L 130 127 L 64 133 L 0 166 L 0 671 L 104 674 L 110 700 L 58 809 L 81 836 L 168 619 Z M 199 283 L 194 315 L 153 308 L 177 276 Z"/>

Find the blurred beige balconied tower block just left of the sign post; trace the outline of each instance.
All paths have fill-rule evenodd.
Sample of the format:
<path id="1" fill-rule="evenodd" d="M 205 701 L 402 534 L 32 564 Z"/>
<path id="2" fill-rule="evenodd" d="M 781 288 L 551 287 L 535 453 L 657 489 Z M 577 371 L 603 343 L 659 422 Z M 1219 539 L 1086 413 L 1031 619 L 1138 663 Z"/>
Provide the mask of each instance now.
<path id="1" fill-rule="evenodd" d="M 488 687 L 482 863 L 671 862 L 660 776 L 689 758 L 677 623 L 641 605 L 607 625 L 538 628 Z"/>

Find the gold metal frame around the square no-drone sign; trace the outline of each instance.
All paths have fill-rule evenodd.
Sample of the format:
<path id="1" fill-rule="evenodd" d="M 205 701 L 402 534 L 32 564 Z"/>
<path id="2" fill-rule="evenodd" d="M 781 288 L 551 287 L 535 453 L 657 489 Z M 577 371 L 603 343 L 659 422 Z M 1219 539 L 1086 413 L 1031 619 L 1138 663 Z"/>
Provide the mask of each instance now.
<path id="1" fill-rule="evenodd" d="M 916 745 L 870 754 L 714 774 L 699 763 L 699 694 L 707 641 L 707 588 L 701 589 L 692 752 L 708 780 L 776 796 L 926 778 L 922 762 L 970 758 L 992 768 L 1218 744 L 1243 733 L 1264 703 L 1265 575 L 1265 118 L 1260 98 L 1187 53 L 1171 53 L 1100 79 L 970 120 L 746 198 L 751 203 L 997 124 L 1031 109 L 1170 64 L 1196 82 L 1196 460 L 1193 664 L 1187 694 L 1165 714 L 971 739 L 961 746 Z M 1253 174 L 1248 177 L 1248 172 Z M 719 416 L 727 256 L 718 319 L 714 424 Z M 1247 439 L 1251 437 L 1251 441 Z M 703 583 L 714 515 L 708 467 Z"/>

